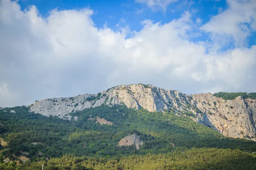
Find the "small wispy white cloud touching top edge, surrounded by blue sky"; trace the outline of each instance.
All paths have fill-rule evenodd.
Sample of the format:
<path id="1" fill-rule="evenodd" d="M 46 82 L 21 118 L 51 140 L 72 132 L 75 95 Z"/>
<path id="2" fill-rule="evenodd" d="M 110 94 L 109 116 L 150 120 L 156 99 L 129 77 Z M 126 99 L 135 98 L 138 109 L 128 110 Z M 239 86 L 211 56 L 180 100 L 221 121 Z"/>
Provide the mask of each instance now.
<path id="1" fill-rule="evenodd" d="M 137 3 L 146 4 L 153 11 L 163 10 L 166 11 L 166 8 L 170 3 L 174 3 L 177 0 L 135 0 Z"/>

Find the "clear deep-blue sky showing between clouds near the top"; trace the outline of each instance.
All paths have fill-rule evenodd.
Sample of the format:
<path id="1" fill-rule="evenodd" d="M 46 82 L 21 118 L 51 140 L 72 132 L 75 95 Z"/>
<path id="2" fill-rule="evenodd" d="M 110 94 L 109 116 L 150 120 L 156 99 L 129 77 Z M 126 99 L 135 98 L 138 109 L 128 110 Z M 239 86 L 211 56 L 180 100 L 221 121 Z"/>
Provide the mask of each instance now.
<path id="1" fill-rule="evenodd" d="M 180 0 L 168 4 L 165 11 L 162 8 L 155 10 L 148 8 L 146 4 L 136 3 L 134 0 L 20 0 L 18 3 L 22 10 L 28 6 L 36 6 L 43 17 L 49 16 L 49 11 L 55 8 L 58 10 L 90 8 L 93 10 L 91 18 L 96 27 L 102 28 L 107 23 L 108 27 L 116 30 L 118 29 L 116 25 L 121 21 L 121 24 L 128 25 L 132 31 L 140 31 L 143 20 L 165 24 L 180 18 L 184 11 L 190 11 L 192 20 L 200 18 L 201 24 L 204 24 L 228 7 L 225 0 Z M 195 40 L 207 38 L 204 34 Z"/>

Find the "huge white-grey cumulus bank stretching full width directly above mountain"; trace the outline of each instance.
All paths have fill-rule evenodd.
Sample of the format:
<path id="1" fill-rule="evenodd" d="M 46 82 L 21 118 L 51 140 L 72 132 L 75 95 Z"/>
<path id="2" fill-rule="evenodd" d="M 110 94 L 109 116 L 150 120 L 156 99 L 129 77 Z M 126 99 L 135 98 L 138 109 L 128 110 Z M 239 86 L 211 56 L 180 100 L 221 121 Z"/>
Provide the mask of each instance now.
<path id="1" fill-rule="evenodd" d="M 256 91 L 256 46 L 218 52 L 192 42 L 198 23 L 189 12 L 166 24 L 144 20 L 129 38 L 126 26 L 97 28 L 92 14 L 55 9 L 45 18 L 1 0 L 0 106 L 140 82 L 186 94 Z"/>

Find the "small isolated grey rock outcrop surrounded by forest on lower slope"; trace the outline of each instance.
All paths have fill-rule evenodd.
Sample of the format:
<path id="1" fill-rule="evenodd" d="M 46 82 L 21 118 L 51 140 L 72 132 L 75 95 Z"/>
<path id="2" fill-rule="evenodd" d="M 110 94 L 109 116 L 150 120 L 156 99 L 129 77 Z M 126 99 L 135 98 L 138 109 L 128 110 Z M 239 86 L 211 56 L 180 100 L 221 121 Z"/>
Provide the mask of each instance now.
<path id="1" fill-rule="evenodd" d="M 140 140 L 140 136 L 137 136 L 135 134 L 125 136 L 118 142 L 117 146 L 131 146 L 133 144 L 136 146 L 136 150 L 142 147 L 143 142 L 142 140 Z"/>

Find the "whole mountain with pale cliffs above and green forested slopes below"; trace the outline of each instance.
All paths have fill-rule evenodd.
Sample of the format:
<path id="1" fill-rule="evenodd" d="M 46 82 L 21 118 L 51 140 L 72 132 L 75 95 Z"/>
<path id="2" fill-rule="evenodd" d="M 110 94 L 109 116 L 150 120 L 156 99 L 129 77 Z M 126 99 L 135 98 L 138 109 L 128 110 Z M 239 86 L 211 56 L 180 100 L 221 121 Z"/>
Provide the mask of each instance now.
<path id="1" fill-rule="evenodd" d="M 1 108 L 0 154 L 24 170 L 254 169 L 256 101 L 220 95 L 121 85 Z"/>

